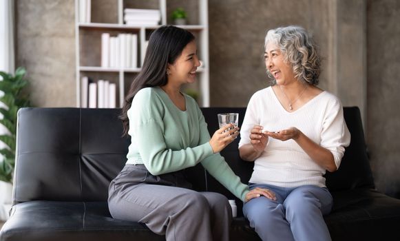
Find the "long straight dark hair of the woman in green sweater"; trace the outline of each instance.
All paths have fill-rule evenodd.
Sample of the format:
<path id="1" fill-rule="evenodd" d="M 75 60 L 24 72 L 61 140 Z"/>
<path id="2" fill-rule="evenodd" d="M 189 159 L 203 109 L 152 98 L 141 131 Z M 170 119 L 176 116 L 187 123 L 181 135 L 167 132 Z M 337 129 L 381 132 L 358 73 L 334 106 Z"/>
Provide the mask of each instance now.
<path id="1" fill-rule="evenodd" d="M 185 46 L 194 39 L 191 32 L 172 25 L 161 26 L 151 33 L 142 70 L 131 83 L 119 116 L 123 121 L 123 136 L 129 130 L 127 111 L 136 93 L 145 87 L 167 85 L 168 63 L 173 64 Z"/>

